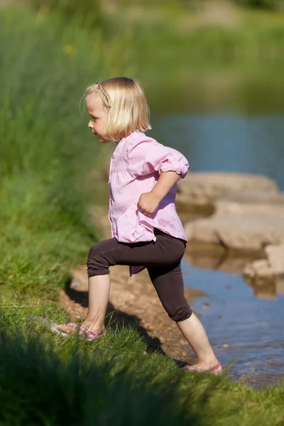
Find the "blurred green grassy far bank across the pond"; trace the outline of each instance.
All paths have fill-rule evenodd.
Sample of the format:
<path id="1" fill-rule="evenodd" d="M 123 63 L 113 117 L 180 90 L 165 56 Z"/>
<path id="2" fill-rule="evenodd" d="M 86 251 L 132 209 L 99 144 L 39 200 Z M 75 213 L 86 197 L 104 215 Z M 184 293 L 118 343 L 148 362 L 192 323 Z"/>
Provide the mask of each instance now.
<path id="1" fill-rule="evenodd" d="M 231 17 L 220 9 L 219 21 L 210 21 L 209 13 L 178 5 L 109 8 L 113 33 L 128 35 L 124 45 L 151 111 L 283 111 L 284 13 L 235 7 Z"/>

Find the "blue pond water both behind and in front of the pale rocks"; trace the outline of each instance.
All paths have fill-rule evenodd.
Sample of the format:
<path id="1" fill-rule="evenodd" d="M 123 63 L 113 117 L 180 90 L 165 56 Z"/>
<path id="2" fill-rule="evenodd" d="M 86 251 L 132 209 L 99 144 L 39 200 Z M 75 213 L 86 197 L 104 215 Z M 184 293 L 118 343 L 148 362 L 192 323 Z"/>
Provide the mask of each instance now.
<path id="1" fill-rule="evenodd" d="M 215 76 L 216 77 L 216 76 Z M 216 78 L 215 78 L 216 80 Z M 169 107 L 152 119 L 151 134 L 161 143 L 177 148 L 189 160 L 192 171 L 231 171 L 259 173 L 272 178 L 284 191 L 284 105 L 273 86 L 273 77 L 265 83 L 266 98 L 258 91 L 257 102 L 249 109 L 216 102 L 218 107 L 195 107 L 181 102 L 182 110 Z M 193 84 L 194 86 L 194 84 Z M 244 88 L 243 88 L 244 89 Z M 249 88 L 248 88 L 249 91 Z M 228 90 L 233 93 L 234 88 Z M 243 92 L 246 92 L 244 89 Z M 172 94 L 173 96 L 173 94 Z M 176 92 L 190 98 L 190 92 Z M 212 99 L 218 94 L 211 94 Z M 178 104 L 175 99 L 173 105 Z M 258 104 L 261 104 L 261 112 Z M 217 357 L 229 376 L 254 386 L 269 386 L 284 378 L 284 284 L 270 283 L 251 287 L 240 271 L 231 273 L 200 267 L 183 259 L 185 285 L 203 290 L 207 296 L 195 297 L 192 308 L 200 315 Z M 196 266 L 197 265 L 197 266 Z M 209 262 L 210 265 L 210 262 Z M 214 265 L 214 261 L 212 262 Z M 205 303 L 205 304 L 204 304 Z M 225 346 L 224 346 L 225 345 Z"/>

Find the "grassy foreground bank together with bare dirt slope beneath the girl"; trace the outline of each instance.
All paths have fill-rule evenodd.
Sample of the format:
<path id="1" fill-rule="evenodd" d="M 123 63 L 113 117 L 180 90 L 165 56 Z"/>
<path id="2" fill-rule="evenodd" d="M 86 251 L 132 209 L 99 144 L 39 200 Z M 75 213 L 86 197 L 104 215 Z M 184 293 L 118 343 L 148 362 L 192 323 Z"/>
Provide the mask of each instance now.
<path id="1" fill-rule="evenodd" d="M 109 237 L 107 209 L 94 207 L 92 221 L 102 238 Z M 70 271 L 72 282 L 59 290 L 64 310 L 40 300 L 31 306 L 27 298 L 17 307 L 1 307 L 1 420 L 38 424 L 44 415 L 52 425 L 87 425 L 107 416 L 118 426 L 121 419 L 141 425 L 137 413 L 143 413 L 143 424 L 149 425 L 161 420 L 168 425 L 233 420 L 240 426 L 283 424 L 283 383 L 254 390 L 244 385 L 244 376 L 228 381 L 229 371 L 222 376 L 182 371 L 180 361 L 194 360 L 146 275 L 129 280 L 128 267 L 111 269 L 108 333 L 97 342 L 61 338 L 29 320 L 31 315 L 48 315 L 56 322 L 84 317 L 85 266 Z M 31 380 L 33 386 L 21 385 Z"/>

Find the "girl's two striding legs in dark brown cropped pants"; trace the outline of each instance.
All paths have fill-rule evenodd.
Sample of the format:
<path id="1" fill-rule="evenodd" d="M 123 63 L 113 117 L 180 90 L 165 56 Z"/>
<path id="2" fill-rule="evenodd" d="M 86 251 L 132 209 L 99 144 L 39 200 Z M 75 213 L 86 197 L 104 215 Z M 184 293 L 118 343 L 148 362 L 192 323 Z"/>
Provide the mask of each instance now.
<path id="1" fill-rule="evenodd" d="M 89 251 L 87 261 L 89 312 L 83 325 L 90 331 L 104 329 L 104 317 L 110 291 L 109 266 L 147 266 L 161 302 L 195 350 L 200 362 L 198 366 L 200 368 L 207 364 L 211 366 L 213 358 L 208 349 L 209 342 L 206 341 L 206 333 L 196 317 L 197 321 L 190 320 L 192 312 L 185 300 L 180 265 L 178 269 L 176 267 L 184 251 L 185 244 L 182 241 L 165 234 L 157 235 L 155 244 L 153 241 L 126 244 L 119 243 L 116 239 L 104 240 L 95 244 Z M 174 262 L 175 267 L 170 266 Z M 69 332 L 69 329 L 68 327 L 63 328 L 62 331 Z M 72 327 L 70 331 L 72 331 Z"/>

